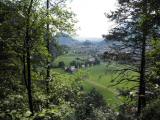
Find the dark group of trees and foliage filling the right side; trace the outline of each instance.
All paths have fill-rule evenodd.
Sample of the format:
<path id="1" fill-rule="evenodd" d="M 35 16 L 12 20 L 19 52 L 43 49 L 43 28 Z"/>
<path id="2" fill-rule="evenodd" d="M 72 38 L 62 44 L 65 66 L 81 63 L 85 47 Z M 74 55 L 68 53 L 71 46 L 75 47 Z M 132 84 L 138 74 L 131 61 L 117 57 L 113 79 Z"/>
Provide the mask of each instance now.
<path id="1" fill-rule="evenodd" d="M 128 107 L 134 106 L 136 108 L 132 115 L 137 112 L 138 116 L 144 115 L 142 119 L 154 120 L 159 115 L 150 118 L 151 109 L 156 108 L 151 108 L 147 114 L 141 113 L 143 113 L 142 110 L 145 109 L 146 105 L 153 107 L 152 101 L 159 98 L 157 92 L 159 91 L 160 80 L 160 67 L 158 67 L 160 62 L 160 2 L 158 0 L 118 0 L 118 3 L 117 10 L 106 15 L 114 20 L 117 26 L 103 37 L 120 41 L 122 45 L 119 49 L 131 50 L 131 57 L 136 62 L 132 62 L 132 67 L 129 66 L 119 70 L 119 76 L 122 79 L 118 80 L 117 83 L 124 81 L 135 81 L 136 85 L 138 83 L 138 87 L 134 87 L 137 93 L 137 97 L 134 99 L 135 102 L 133 105 L 128 105 Z M 128 77 L 126 73 L 129 71 L 136 74 Z M 147 116 L 149 117 L 147 118 Z M 132 117 L 132 119 L 134 118 Z"/>

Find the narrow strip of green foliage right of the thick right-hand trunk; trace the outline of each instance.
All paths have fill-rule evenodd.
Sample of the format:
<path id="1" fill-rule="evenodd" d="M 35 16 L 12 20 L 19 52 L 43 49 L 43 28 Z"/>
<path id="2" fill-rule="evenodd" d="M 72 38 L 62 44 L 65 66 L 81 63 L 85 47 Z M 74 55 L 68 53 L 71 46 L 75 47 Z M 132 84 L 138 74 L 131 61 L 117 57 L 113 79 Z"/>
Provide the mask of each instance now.
<path id="1" fill-rule="evenodd" d="M 148 61 L 150 61 L 149 71 L 147 73 L 147 95 L 148 102 L 159 98 L 160 85 L 160 41 L 152 39 L 152 49 L 147 52 Z"/>

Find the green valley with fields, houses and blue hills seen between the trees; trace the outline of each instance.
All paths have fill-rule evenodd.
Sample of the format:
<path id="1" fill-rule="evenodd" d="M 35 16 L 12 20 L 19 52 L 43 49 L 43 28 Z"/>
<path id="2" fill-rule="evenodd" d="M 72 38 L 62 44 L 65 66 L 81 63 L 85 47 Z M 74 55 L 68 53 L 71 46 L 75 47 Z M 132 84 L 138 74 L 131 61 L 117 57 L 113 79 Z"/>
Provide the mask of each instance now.
<path id="1" fill-rule="evenodd" d="M 67 42 L 64 42 L 64 40 L 63 43 L 67 45 Z M 119 67 L 122 68 L 125 66 L 114 61 L 110 62 L 109 59 L 105 61 L 103 60 L 102 56 L 104 52 L 110 51 L 113 43 L 109 42 L 107 44 L 105 41 L 84 41 L 75 43 L 76 44 L 73 46 L 68 46 L 70 49 L 67 53 L 56 58 L 54 64 L 58 66 L 60 62 L 64 62 L 64 67 L 56 68 L 55 70 L 69 76 L 73 76 L 75 74 L 81 74 L 80 76 L 85 76 L 82 79 L 82 86 L 86 92 L 89 92 L 95 88 L 103 95 L 103 98 L 107 104 L 111 105 L 112 107 L 121 105 L 124 101 L 124 98 L 119 96 L 118 90 L 123 89 L 124 86 L 128 86 L 128 88 L 132 87 L 132 83 L 125 82 L 120 85 L 112 86 L 114 84 L 113 79 L 118 75 L 115 73 L 115 71 Z M 99 60 L 99 63 L 87 65 L 89 64 L 88 61 L 90 59 L 97 59 Z M 76 67 L 76 64 L 75 66 L 72 65 L 73 61 L 80 66 Z M 74 66 L 74 68 L 78 70 L 68 73 L 65 71 L 65 68 L 69 66 Z"/>

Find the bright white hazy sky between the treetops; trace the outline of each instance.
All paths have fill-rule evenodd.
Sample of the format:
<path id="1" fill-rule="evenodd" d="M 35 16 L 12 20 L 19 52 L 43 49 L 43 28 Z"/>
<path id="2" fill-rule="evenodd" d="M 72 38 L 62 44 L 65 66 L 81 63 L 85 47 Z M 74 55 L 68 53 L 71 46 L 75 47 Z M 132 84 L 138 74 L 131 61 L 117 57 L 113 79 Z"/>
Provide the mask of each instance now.
<path id="1" fill-rule="evenodd" d="M 104 15 L 116 7 L 116 0 L 73 0 L 71 9 L 77 14 L 80 38 L 102 38 L 113 26 Z"/>

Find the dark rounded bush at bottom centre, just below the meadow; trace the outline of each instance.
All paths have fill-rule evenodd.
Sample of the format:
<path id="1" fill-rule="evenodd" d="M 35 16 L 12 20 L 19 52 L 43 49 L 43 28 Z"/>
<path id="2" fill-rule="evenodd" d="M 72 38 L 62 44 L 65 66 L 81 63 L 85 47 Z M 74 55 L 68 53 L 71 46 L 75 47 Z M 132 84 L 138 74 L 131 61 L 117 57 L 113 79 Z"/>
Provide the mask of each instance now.
<path id="1" fill-rule="evenodd" d="M 106 106 L 102 95 L 92 89 L 76 106 L 76 120 L 115 120 L 115 113 Z"/>

